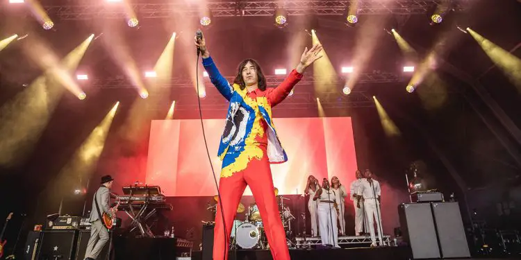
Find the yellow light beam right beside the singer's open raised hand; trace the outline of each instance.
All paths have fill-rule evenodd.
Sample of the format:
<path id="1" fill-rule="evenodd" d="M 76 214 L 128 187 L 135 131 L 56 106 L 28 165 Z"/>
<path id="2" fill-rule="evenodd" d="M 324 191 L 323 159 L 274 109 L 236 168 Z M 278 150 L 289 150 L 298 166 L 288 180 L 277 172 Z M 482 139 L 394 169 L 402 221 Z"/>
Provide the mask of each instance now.
<path id="1" fill-rule="evenodd" d="M 315 32 L 311 30 L 313 45 L 320 44 L 320 40 Z M 323 56 L 316 62 L 313 62 L 313 76 L 315 76 L 315 93 L 334 92 L 336 89 L 336 71 L 331 64 L 331 60 L 326 53 L 326 49 L 322 49 Z"/>

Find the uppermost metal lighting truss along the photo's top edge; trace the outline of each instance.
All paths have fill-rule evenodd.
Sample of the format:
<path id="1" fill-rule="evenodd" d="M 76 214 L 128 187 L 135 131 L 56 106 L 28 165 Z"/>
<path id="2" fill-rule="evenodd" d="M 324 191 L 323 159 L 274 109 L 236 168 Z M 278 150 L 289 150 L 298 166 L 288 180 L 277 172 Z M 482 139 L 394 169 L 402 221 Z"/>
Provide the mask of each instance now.
<path id="1" fill-rule="evenodd" d="M 470 0 L 454 0 L 454 10 L 465 10 Z M 50 1 L 49 1 L 50 2 Z M 442 0 L 358 0 L 358 15 L 417 15 L 428 12 Z M 288 15 L 344 15 L 351 1 L 283 1 Z M 63 20 L 122 19 L 126 17 L 123 6 L 107 3 L 74 5 L 44 4 L 48 14 Z M 207 8 L 214 17 L 272 16 L 279 1 L 209 1 Z M 165 3 L 130 3 L 140 18 L 171 18 L 174 15 L 197 16 L 199 6 L 187 1 L 165 1 Z"/>

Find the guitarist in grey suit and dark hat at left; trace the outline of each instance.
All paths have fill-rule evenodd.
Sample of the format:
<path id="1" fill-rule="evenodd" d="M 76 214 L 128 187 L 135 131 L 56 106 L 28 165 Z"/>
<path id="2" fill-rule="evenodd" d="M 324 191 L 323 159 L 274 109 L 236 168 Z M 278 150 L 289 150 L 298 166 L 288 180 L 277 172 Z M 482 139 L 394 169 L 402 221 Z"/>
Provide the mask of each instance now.
<path id="1" fill-rule="evenodd" d="M 110 175 L 101 177 L 101 187 L 94 193 L 89 218 L 92 229 L 90 229 L 90 239 L 87 244 L 87 250 L 85 251 L 85 260 L 97 259 L 104 245 L 108 242 L 108 229 L 104 225 L 103 214 L 106 213 L 110 217 L 115 214 L 113 209 L 110 209 L 108 206 L 110 198 L 109 190 L 112 187 L 113 180 Z"/>

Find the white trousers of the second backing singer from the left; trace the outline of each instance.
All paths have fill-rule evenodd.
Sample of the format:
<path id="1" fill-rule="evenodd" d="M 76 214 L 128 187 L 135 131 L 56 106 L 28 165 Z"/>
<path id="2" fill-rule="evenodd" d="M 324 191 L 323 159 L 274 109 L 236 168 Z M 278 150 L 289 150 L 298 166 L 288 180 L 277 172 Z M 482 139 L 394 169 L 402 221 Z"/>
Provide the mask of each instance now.
<path id="1" fill-rule="evenodd" d="M 336 209 L 333 207 L 333 203 L 320 202 L 318 204 L 318 224 L 320 225 L 322 245 L 338 247 L 338 228 L 336 227 L 336 221 Z"/>

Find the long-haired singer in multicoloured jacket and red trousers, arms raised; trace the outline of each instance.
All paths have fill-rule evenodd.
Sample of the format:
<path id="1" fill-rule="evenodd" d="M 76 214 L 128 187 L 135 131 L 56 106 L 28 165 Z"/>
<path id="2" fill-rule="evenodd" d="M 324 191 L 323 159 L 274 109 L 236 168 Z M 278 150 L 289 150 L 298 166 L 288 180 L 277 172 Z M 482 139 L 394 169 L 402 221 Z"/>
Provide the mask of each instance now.
<path id="1" fill-rule="evenodd" d="M 302 78 L 304 70 L 322 57 L 322 46 L 315 45 L 310 50 L 306 48 L 299 64 L 286 80 L 277 87 L 268 88 L 261 67 L 255 60 L 242 61 L 233 84 L 230 84 L 210 58 L 203 35 L 195 37 L 195 45 L 202 53 L 203 66 L 211 82 L 230 102 L 218 151 L 222 160 L 219 181 L 221 200 L 215 216 L 213 259 L 228 258 L 229 239 L 224 239 L 223 232 L 229 238 L 240 198 L 249 185 L 263 219 L 273 259 L 288 260 L 290 254 L 270 169 L 270 163 L 283 163 L 288 157 L 276 135 L 272 107 L 281 103 Z"/>

